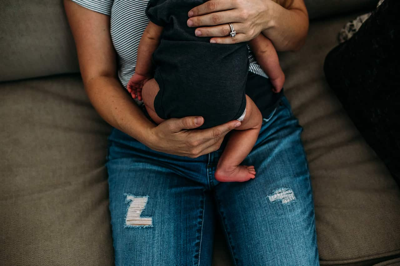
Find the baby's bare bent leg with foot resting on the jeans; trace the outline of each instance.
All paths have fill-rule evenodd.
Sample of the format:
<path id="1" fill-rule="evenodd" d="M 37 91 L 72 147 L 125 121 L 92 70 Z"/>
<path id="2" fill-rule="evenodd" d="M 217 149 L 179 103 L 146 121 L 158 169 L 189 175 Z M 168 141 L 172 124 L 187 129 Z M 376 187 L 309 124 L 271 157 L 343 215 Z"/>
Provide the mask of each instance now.
<path id="1" fill-rule="evenodd" d="M 262 124 L 262 115 L 256 104 L 246 95 L 246 115 L 237 127 L 218 161 L 215 179 L 220 182 L 243 182 L 254 178 L 254 166 L 240 165 L 253 149 Z"/>

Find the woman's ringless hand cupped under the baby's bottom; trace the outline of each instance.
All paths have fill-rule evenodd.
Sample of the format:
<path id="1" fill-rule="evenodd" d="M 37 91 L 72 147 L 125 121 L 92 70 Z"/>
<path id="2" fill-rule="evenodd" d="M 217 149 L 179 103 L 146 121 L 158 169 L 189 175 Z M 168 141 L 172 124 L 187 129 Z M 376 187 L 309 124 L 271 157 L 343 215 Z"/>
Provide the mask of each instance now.
<path id="1" fill-rule="evenodd" d="M 170 118 L 150 129 L 145 145 L 155 151 L 196 158 L 219 149 L 225 135 L 241 124 L 233 120 L 208 129 L 187 130 L 203 123 L 202 117 Z"/>

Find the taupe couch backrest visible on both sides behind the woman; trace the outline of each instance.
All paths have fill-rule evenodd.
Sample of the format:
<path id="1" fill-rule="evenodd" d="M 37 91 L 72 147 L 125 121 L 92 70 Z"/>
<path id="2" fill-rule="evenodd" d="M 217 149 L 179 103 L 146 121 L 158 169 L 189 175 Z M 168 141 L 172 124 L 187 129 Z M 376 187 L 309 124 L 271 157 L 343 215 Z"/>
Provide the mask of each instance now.
<path id="1" fill-rule="evenodd" d="M 372 9 L 377 0 L 305 0 L 310 19 Z M 0 1 L 0 81 L 79 71 L 62 0 Z"/>

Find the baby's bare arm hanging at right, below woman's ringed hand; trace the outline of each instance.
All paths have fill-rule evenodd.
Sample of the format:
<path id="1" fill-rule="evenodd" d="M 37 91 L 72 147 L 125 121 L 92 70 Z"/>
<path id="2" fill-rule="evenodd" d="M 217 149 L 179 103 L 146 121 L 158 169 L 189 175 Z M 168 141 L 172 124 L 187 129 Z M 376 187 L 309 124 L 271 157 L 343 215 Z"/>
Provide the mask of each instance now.
<path id="1" fill-rule="evenodd" d="M 254 56 L 264 70 L 270 77 L 274 92 L 281 91 L 285 82 L 285 75 L 279 64 L 278 54 L 270 39 L 266 38 L 263 34 L 258 35 L 256 38 L 249 42 Z"/>

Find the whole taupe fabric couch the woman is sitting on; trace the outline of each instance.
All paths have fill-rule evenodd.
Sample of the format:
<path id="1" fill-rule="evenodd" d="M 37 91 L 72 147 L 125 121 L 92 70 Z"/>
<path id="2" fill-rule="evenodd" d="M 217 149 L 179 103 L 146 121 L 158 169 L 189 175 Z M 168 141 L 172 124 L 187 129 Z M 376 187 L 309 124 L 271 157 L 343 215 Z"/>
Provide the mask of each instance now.
<path id="1" fill-rule="evenodd" d="M 305 2 L 306 44 L 279 57 L 304 128 L 320 264 L 400 265 L 400 189 L 323 72 L 340 28 L 377 0 Z M 84 92 L 62 1 L 0 1 L 0 265 L 114 264 L 110 130 Z M 232 265 L 219 228 L 213 265 Z"/>

